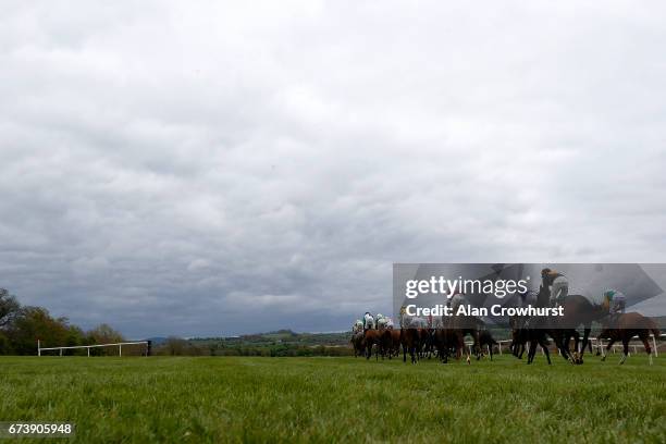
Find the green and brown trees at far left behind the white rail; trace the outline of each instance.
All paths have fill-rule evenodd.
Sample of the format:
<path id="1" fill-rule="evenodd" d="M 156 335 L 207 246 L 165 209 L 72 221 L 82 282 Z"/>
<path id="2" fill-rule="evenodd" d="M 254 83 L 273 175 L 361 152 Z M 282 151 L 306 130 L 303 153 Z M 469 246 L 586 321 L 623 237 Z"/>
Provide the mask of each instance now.
<path id="1" fill-rule="evenodd" d="M 121 333 L 107 324 L 84 331 L 71 324 L 67 318 L 53 318 L 44 307 L 22 306 L 14 295 L 0 288 L 0 355 L 36 355 L 37 340 L 40 341 L 42 347 L 109 344 L 125 341 Z M 123 347 L 123 355 L 138 355 L 141 351 L 139 346 Z M 87 355 L 87 350 L 63 350 L 63 354 Z M 118 355 L 118 349 L 115 347 L 91 348 L 90 355 Z"/>

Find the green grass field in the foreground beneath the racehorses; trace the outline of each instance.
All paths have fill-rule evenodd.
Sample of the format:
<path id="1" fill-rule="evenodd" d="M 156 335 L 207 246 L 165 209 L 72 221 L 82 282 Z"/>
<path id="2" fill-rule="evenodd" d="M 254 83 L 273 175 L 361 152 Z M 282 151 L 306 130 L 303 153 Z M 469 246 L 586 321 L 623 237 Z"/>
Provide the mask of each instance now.
<path id="1" fill-rule="evenodd" d="M 666 442 L 666 357 L 618 358 L 3 357 L 0 421 L 83 443 Z"/>

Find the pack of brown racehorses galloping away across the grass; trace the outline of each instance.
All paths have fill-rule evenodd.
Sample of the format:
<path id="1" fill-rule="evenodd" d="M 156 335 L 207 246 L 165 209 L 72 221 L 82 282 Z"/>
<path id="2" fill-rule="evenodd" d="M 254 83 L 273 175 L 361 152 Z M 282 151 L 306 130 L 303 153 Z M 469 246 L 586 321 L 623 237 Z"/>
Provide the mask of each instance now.
<path id="1" fill-rule="evenodd" d="M 582 363 L 585 348 L 589 345 L 589 336 L 593 322 L 603 325 L 600 340 L 607 340 L 606 353 L 615 342 L 621 342 L 624 347 L 620 363 L 624 363 L 629 354 L 629 342 L 638 336 L 652 363 L 652 347 L 650 346 L 650 334 L 659 337 L 659 330 L 655 322 L 638 312 L 622 313 L 607 322 L 608 311 L 603 306 L 591 303 L 583 296 L 569 295 L 563 304 L 564 316 L 560 319 L 552 317 L 515 317 L 509 320 L 511 330 L 510 350 L 514 356 L 521 358 L 523 351 L 528 351 L 528 363 L 533 362 L 538 346 L 541 346 L 548 363 L 551 356 L 548 350 L 550 340 L 553 340 L 559 354 L 571 363 Z M 582 346 L 580 334 L 577 329 L 583 328 Z M 472 338 L 471 347 L 466 347 L 465 337 Z M 548 340 L 550 338 L 550 340 Z M 575 341 L 574 351 L 569 348 Z M 493 340 L 483 322 L 474 317 L 456 317 L 442 319 L 439 328 L 415 328 L 403 325 L 399 330 L 372 328 L 354 332 L 351 345 L 355 356 L 365 356 L 370 359 L 374 350 L 375 359 L 399 356 L 403 351 L 403 361 L 407 361 L 407 354 L 411 362 L 416 363 L 423 357 L 437 356 L 442 362 L 447 362 L 449 357 L 460 359 L 465 354 L 467 362 L 470 355 L 480 359 L 483 350 L 488 349 L 492 360 L 493 346 L 497 343 Z M 591 349 L 591 348 L 590 348 Z M 603 354 L 605 359 L 606 353 Z"/>

